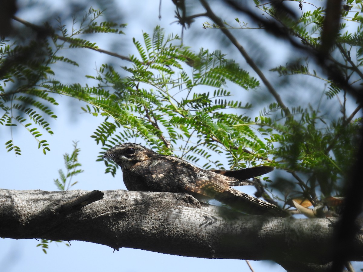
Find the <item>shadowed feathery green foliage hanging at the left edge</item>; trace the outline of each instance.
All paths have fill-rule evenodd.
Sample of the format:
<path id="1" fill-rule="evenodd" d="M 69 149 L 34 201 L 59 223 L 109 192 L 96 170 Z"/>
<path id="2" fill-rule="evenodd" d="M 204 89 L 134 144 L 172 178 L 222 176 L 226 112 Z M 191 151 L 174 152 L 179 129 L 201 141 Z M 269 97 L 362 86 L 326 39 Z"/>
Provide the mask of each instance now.
<path id="1" fill-rule="evenodd" d="M 56 29 L 50 26 L 42 29 L 49 34 L 49 39 L 30 41 L 26 45 L 0 40 L 0 125 L 8 128 L 10 135 L 13 135 L 15 127 L 23 127 L 44 154 L 50 150 L 45 135 L 53 134 L 50 120 L 57 119 L 53 112 L 53 108 L 58 105 L 55 98 L 59 94 L 73 95 L 75 91 L 78 91 L 77 97 L 81 97 L 83 92 L 76 85 L 65 86 L 54 79 L 52 67 L 57 62 L 78 66 L 77 62 L 60 55 L 61 49 L 68 45 L 70 48 L 98 50 L 95 43 L 77 38 L 77 35 L 123 33 L 118 28 L 125 25 L 98 23 L 100 16 L 102 12 L 90 8 L 78 23 L 74 19 L 72 33 L 68 33 L 65 25 L 58 20 Z M 35 31 L 39 30 L 37 26 L 33 28 Z M 84 92 L 82 97 L 87 100 Z M 21 149 L 14 142 L 12 136 L 5 143 L 5 148 L 8 152 L 13 151 L 20 155 Z"/>

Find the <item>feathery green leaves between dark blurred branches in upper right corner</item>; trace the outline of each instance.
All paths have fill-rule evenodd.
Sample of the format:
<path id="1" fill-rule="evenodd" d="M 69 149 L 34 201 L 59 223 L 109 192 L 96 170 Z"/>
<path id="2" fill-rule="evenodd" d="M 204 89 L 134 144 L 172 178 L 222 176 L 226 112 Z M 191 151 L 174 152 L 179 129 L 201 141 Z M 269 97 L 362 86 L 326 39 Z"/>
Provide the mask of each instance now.
<path id="1" fill-rule="evenodd" d="M 297 1 L 297 5 L 298 5 Z M 315 7 L 314 5 L 310 4 Z M 329 54 L 334 59 L 334 65 L 336 69 L 350 70 L 352 73 L 349 78 L 354 78 L 351 81 L 352 86 L 359 86 L 362 84 L 362 10 L 361 1 L 350 0 L 347 1 L 345 9 L 343 7 L 340 20 L 342 23 L 339 25 L 339 32 L 336 37 L 335 43 L 329 49 Z M 258 4 L 260 9 L 266 12 L 273 20 L 277 20 L 284 24 L 286 29 L 289 30 L 291 36 L 298 38 L 301 44 L 306 46 L 306 49 L 311 52 L 319 53 L 319 50 L 323 46 L 322 34 L 324 33 L 324 20 L 326 10 L 324 7 L 315 7 L 312 11 L 307 10 L 297 19 L 285 16 L 281 17 L 276 10 L 269 6 L 269 4 Z M 310 7 L 311 7 L 310 6 Z M 302 9 L 303 10 L 303 9 Z M 357 11 L 357 12 L 356 12 Z M 347 25 L 349 22 L 349 26 Z M 355 22 L 352 24 L 351 22 Z M 349 30 L 347 30 L 349 27 Z M 351 29 L 356 28 L 355 31 Z M 294 60 L 295 61 L 295 60 Z M 299 61 L 295 63 L 287 63 L 286 66 L 279 66 L 272 71 L 277 71 L 280 75 L 292 75 L 292 74 L 303 74 L 311 77 L 319 78 L 328 83 L 326 95 L 328 98 L 334 98 L 340 92 L 343 92 L 343 87 L 334 83 L 334 80 L 325 78 L 323 75 L 319 75 L 317 71 L 309 68 L 309 59 L 305 59 L 305 65 L 300 65 Z"/>

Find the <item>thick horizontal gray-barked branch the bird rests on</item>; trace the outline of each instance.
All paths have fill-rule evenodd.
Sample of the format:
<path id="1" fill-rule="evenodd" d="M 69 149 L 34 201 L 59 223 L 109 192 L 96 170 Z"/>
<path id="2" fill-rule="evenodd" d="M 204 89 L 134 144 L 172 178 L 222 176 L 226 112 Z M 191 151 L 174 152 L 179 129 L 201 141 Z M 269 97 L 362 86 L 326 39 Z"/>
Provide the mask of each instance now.
<path id="1" fill-rule="evenodd" d="M 103 199 L 79 211 L 60 212 L 62 203 L 86 193 L 0 189 L 0 237 L 81 240 L 116 250 L 130 247 L 203 258 L 274 260 L 290 271 L 304 270 L 301 265 L 292 269 L 297 263 L 324 271 L 332 261 L 335 219 L 243 215 L 200 203 L 188 194 L 124 190 L 104 191 Z M 363 260 L 362 234 L 348 250 L 351 261 Z"/>

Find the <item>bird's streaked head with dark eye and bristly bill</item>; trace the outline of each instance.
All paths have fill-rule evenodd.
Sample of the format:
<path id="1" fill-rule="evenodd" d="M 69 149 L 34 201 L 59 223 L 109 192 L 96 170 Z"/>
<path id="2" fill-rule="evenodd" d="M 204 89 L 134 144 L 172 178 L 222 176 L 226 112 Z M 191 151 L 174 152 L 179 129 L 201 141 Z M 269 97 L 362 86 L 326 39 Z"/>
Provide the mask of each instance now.
<path id="1" fill-rule="evenodd" d="M 140 161 L 150 160 L 151 158 L 158 156 L 158 153 L 143 147 L 139 144 L 126 143 L 116 145 L 110 148 L 102 156 L 103 159 L 113 160 L 123 170 L 130 169 L 131 166 L 135 165 Z"/>

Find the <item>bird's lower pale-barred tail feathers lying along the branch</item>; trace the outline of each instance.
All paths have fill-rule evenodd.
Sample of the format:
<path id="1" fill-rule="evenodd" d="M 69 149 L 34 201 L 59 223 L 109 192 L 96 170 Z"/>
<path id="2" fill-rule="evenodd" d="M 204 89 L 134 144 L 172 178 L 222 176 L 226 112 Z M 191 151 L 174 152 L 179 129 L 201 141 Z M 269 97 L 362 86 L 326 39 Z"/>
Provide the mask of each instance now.
<path id="1" fill-rule="evenodd" d="M 215 196 L 215 199 L 248 214 L 275 217 L 286 217 L 289 215 L 285 210 L 282 210 L 276 205 L 255 198 L 252 195 L 242 193 L 233 188 L 229 188 L 223 193 L 219 193 Z"/>

